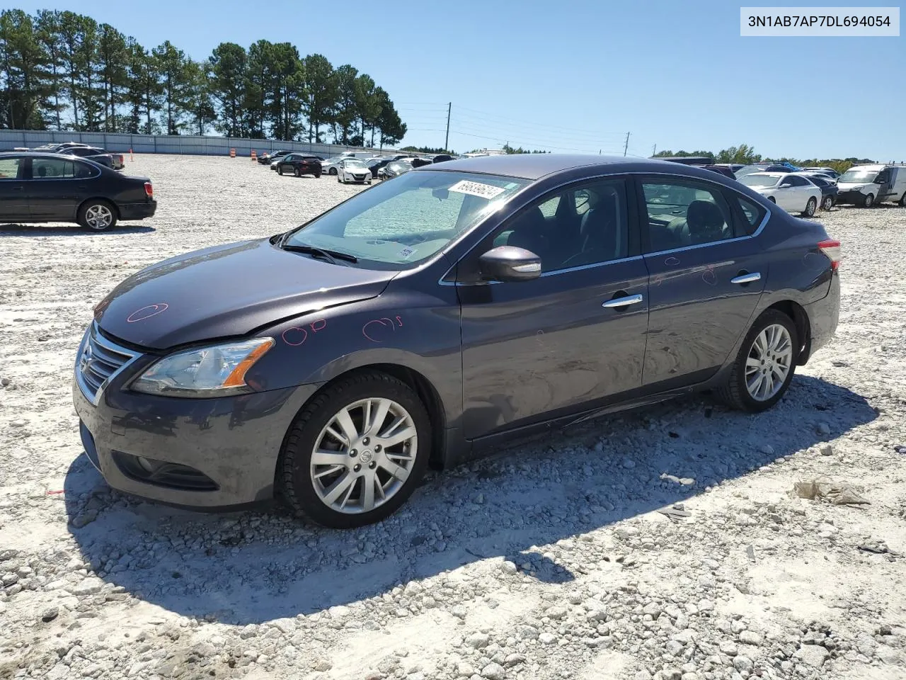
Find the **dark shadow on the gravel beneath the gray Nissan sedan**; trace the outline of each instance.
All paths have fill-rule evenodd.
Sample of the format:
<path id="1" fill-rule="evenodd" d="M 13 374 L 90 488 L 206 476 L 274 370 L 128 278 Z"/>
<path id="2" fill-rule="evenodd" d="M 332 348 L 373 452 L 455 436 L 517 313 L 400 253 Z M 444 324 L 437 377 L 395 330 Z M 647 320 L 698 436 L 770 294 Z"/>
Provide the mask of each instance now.
<path id="1" fill-rule="evenodd" d="M 757 415 L 707 397 L 662 403 L 431 473 L 389 520 L 346 531 L 283 510 L 211 515 L 130 499 L 84 454 L 64 491 L 69 529 L 98 576 L 180 615 L 262 623 L 487 558 L 569 582 L 535 546 L 669 507 L 876 417 L 861 395 L 809 376 Z"/>

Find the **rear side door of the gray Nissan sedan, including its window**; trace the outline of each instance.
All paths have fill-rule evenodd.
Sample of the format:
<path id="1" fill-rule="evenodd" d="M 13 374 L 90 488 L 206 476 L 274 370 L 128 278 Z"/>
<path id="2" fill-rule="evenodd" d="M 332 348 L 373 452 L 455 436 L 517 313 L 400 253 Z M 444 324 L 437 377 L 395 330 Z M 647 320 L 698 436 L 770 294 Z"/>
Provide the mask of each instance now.
<path id="1" fill-rule="evenodd" d="M 751 234 L 757 203 L 704 180 L 641 180 L 649 229 L 644 384 L 656 391 L 718 371 L 765 288 L 767 257 Z"/>

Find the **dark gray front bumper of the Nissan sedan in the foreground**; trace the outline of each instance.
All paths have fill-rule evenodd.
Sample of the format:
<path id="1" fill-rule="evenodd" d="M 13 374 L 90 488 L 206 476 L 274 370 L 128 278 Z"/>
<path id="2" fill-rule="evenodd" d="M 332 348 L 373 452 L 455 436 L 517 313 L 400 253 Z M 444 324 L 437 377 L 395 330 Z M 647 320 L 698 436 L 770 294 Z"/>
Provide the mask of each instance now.
<path id="1" fill-rule="evenodd" d="M 107 483 L 150 500 L 203 510 L 273 498 L 284 435 L 319 385 L 214 399 L 123 390 L 151 361 L 142 359 L 108 385 L 97 406 L 73 381 L 82 443 Z M 172 473 L 145 474 L 138 457 Z"/>

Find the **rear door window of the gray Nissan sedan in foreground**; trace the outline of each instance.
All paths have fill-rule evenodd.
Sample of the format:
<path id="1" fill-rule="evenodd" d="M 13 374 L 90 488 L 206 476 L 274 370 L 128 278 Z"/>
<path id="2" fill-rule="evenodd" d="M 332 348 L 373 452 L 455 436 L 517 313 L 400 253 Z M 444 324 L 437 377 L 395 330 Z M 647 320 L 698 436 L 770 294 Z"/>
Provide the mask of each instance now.
<path id="1" fill-rule="evenodd" d="M 718 189 L 681 180 L 642 183 L 650 252 L 733 238 L 727 202 Z"/>

